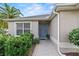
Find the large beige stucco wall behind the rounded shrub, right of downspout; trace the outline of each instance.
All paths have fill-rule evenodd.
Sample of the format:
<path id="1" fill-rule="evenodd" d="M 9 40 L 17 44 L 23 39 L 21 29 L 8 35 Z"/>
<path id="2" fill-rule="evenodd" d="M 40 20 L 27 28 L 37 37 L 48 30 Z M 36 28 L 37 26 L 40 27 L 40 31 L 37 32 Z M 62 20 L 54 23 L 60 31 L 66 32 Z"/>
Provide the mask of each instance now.
<path id="1" fill-rule="evenodd" d="M 61 11 L 59 23 L 60 42 L 69 42 L 69 32 L 79 27 L 79 11 Z"/>

